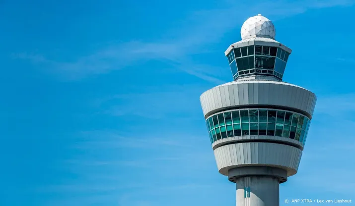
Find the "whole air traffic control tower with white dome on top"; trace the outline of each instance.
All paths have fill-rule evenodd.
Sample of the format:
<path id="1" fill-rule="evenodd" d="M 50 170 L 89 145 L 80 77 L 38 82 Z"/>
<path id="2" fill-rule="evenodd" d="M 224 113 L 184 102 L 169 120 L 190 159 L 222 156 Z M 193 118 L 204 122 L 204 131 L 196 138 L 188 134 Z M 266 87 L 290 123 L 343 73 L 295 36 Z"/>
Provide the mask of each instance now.
<path id="1" fill-rule="evenodd" d="M 283 82 L 291 49 L 274 24 L 250 17 L 242 40 L 224 52 L 234 81 L 201 97 L 219 173 L 236 183 L 237 206 L 279 206 L 279 184 L 297 173 L 316 103 L 314 93 Z"/>

